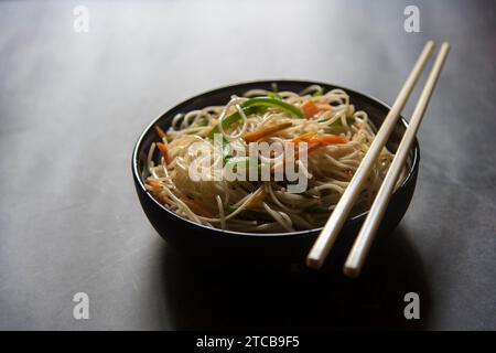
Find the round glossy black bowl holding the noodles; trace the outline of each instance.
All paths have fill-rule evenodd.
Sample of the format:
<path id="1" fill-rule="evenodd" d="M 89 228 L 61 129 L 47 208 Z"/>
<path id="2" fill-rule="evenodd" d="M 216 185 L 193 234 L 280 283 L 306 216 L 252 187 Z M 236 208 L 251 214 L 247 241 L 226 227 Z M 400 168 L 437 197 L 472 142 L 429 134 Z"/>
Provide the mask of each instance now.
<path id="1" fill-rule="evenodd" d="M 182 254 L 201 257 L 209 261 L 220 260 L 224 264 L 268 265 L 276 261 L 282 265 L 304 263 L 305 255 L 321 228 L 273 234 L 220 231 L 187 221 L 169 211 L 147 191 L 143 184 L 143 180 L 147 176 L 147 152 L 151 143 L 158 141 L 153 129 L 154 125 L 166 129 L 171 125 L 172 118 L 179 113 L 211 105 L 224 105 L 234 94 L 242 95 L 245 92 L 254 88 L 271 89 L 273 84 L 277 84 L 279 90 L 292 92 L 300 92 L 313 84 L 321 85 L 325 90 L 343 88 L 323 83 L 303 81 L 261 81 L 218 88 L 187 99 L 168 110 L 153 120 L 138 139 L 132 153 L 132 175 L 141 206 L 157 232 Z M 349 95 L 351 103 L 357 109 L 367 111 L 376 127 L 381 125 L 390 109 L 389 106 L 370 96 L 347 88 L 343 89 Z M 398 121 L 388 142 L 388 149 L 390 151 L 396 151 L 407 126 L 408 124 L 403 118 Z M 378 232 L 378 240 L 391 233 L 401 221 L 410 204 L 417 182 L 419 158 L 419 145 L 416 141 L 409 156 L 407 178 L 390 200 Z M 347 253 L 346 250 L 353 244 L 365 216 L 366 213 L 363 213 L 349 218 L 345 223 L 330 257 L 339 261 L 342 260 L 344 254 Z"/>

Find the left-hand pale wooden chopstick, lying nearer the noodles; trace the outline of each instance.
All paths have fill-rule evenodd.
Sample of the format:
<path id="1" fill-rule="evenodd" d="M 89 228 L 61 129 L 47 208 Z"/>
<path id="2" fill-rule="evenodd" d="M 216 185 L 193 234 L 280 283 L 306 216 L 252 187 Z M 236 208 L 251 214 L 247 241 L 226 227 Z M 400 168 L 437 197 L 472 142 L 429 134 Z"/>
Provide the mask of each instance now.
<path id="1" fill-rule="evenodd" d="M 362 191 L 364 183 L 370 174 L 377 157 L 379 156 L 389 136 L 391 135 L 401 110 L 403 109 L 411 92 L 413 90 L 414 85 L 422 74 L 423 68 L 425 67 L 425 64 L 430 55 L 432 54 L 433 47 L 433 41 L 427 42 L 410 75 L 405 82 L 403 87 L 398 94 L 398 97 L 396 98 L 391 110 L 389 110 L 388 115 L 386 116 L 386 119 L 384 120 L 379 131 L 377 131 L 376 138 L 371 142 L 370 148 L 368 149 L 362 163 L 356 170 L 355 175 L 341 196 L 339 202 L 327 220 L 317 239 L 313 244 L 313 247 L 311 248 L 306 257 L 306 266 L 317 269 L 324 264 L 324 260 L 334 242 L 336 240 L 339 231 L 349 214 L 349 211 L 352 211 L 352 207 L 359 192 Z"/>

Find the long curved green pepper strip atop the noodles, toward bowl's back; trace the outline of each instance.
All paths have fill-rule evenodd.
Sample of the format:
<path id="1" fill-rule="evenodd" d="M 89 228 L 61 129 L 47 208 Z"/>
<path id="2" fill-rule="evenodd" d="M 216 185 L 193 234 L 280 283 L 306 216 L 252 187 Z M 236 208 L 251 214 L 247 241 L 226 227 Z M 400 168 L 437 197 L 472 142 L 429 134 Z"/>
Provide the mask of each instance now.
<path id="1" fill-rule="evenodd" d="M 295 118 L 299 118 L 299 119 L 304 118 L 303 113 L 300 109 L 298 109 L 295 106 L 293 106 L 292 104 L 285 103 L 284 100 L 276 99 L 276 98 L 269 98 L 269 97 L 251 98 L 251 99 L 248 99 L 245 103 L 242 103 L 240 105 L 240 107 L 242 109 L 242 113 L 245 113 L 246 115 L 250 115 L 254 113 L 263 113 L 267 109 L 276 108 L 276 109 L 282 110 L 284 113 L 289 113 L 290 115 L 292 115 Z M 228 128 L 233 127 L 240 119 L 241 119 L 241 116 L 239 115 L 238 111 L 229 115 L 228 117 L 223 119 L 223 129 L 228 129 Z M 211 139 L 213 139 L 215 133 L 220 133 L 220 129 L 218 128 L 218 126 L 215 126 L 211 130 L 211 132 L 208 132 L 207 136 Z"/>

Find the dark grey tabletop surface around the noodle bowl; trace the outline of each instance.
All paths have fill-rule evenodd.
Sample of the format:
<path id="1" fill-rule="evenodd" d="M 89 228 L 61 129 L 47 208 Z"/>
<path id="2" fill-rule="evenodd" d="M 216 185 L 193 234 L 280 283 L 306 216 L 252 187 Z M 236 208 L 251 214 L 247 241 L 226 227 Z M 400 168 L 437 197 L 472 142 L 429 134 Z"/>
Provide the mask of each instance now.
<path id="1" fill-rule="evenodd" d="M 73 29 L 78 4 L 87 33 Z M 419 33 L 403 30 L 407 4 Z M 468 0 L 1 2 L 0 329 L 495 330 L 495 12 Z M 196 267 L 153 231 L 130 170 L 152 118 L 266 78 L 391 104 L 428 39 L 452 52 L 419 131 L 417 190 L 360 279 Z M 418 321 L 403 318 L 411 291 Z M 77 292 L 89 320 L 73 317 Z"/>

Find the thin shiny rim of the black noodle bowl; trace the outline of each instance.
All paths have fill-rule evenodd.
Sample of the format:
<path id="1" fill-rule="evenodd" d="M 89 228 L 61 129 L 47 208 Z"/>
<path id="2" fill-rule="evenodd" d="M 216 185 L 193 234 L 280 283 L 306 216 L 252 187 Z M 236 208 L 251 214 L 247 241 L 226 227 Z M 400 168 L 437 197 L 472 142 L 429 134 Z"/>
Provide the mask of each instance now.
<path id="1" fill-rule="evenodd" d="M 315 233 L 320 233 L 322 231 L 323 227 L 319 227 L 319 228 L 312 228 L 312 229 L 304 229 L 304 231 L 296 231 L 296 232 L 279 232 L 279 233 L 249 233 L 249 232 L 237 232 L 237 231 L 227 231 L 227 229 L 219 229 L 219 228 L 215 228 L 215 227 L 211 227 L 207 225 L 203 225 L 200 223 L 196 223 L 194 221 L 190 221 L 186 220 L 182 216 L 180 216 L 179 214 L 176 214 L 175 212 L 168 210 L 164 205 L 162 205 L 155 197 L 153 197 L 153 195 L 150 193 L 150 191 L 144 186 L 141 178 L 140 178 L 140 173 L 139 173 L 139 168 L 138 168 L 138 152 L 139 149 L 141 147 L 141 145 L 143 143 L 143 139 L 144 137 L 149 133 L 149 131 L 151 129 L 153 129 L 153 126 L 155 126 L 155 124 L 161 120 L 165 115 L 168 115 L 171 110 L 177 109 L 180 106 L 183 105 L 188 105 L 191 103 L 193 103 L 195 99 L 198 99 L 203 96 L 208 96 L 208 95 L 213 95 L 213 94 L 220 94 L 224 90 L 236 90 L 236 89 L 240 89 L 242 86 L 247 86 L 247 85 L 267 85 L 267 84 L 279 84 L 279 83 L 283 83 L 283 84 L 302 84 L 302 85 L 322 85 L 322 86 L 331 86 L 334 88 L 339 88 L 345 90 L 346 93 L 352 93 L 353 95 L 357 95 L 357 96 L 362 96 L 365 97 L 366 99 L 369 99 L 370 101 L 377 104 L 378 106 L 381 106 L 381 108 L 387 109 L 388 111 L 391 109 L 391 107 L 386 104 L 385 101 L 368 95 L 368 94 L 364 94 L 354 89 L 349 89 L 345 86 L 341 86 L 341 85 L 335 85 L 335 84 L 331 84 L 331 83 L 323 83 L 323 82 L 316 82 L 316 81 L 304 81 L 304 79 L 259 79 L 259 81 L 248 81 L 248 82 L 241 82 L 241 83 L 237 83 L 237 84 L 233 84 L 233 85 L 227 85 L 227 86 L 222 86 L 218 88 L 214 88 L 201 94 L 197 94 L 193 97 L 190 97 L 187 99 L 184 99 L 182 101 L 180 101 L 179 104 L 174 105 L 173 107 L 166 109 L 164 113 L 160 114 L 157 118 L 154 118 L 150 124 L 147 125 L 147 127 L 143 129 L 143 131 L 140 133 L 138 140 L 134 143 L 134 148 L 132 151 L 132 159 L 131 159 L 131 169 L 132 169 L 132 176 L 134 179 L 134 185 L 140 186 L 141 191 L 145 193 L 147 197 L 150 199 L 151 202 L 153 202 L 154 204 L 157 204 L 162 211 L 169 213 L 170 215 L 172 215 L 173 217 L 177 218 L 177 221 L 180 222 L 185 222 L 186 224 L 193 226 L 193 227 L 200 227 L 203 228 L 205 231 L 209 231 L 209 232 L 214 232 L 219 236 L 225 236 L 225 235 L 229 235 L 229 236 L 241 236 L 241 237 L 301 237 L 301 236 L 310 236 L 310 235 L 314 235 Z M 403 127 L 407 129 L 408 128 L 408 121 L 403 118 L 402 115 L 399 116 L 399 120 L 398 122 L 401 122 L 403 125 Z M 392 196 L 400 191 L 401 189 L 403 189 L 406 186 L 407 183 L 409 183 L 414 174 L 414 172 L 418 170 L 419 168 L 419 161 L 420 161 L 420 146 L 419 146 L 419 141 L 416 137 L 413 146 L 411 147 L 412 151 L 413 151 L 413 156 L 412 156 L 412 162 L 411 162 L 411 167 L 408 170 L 407 176 L 405 178 L 405 180 L 402 181 L 402 183 L 400 184 L 400 186 L 392 193 Z M 391 197 L 392 197 L 391 196 Z M 357 215 L 354 215 L 353 217 L 349 217 L 348 220 L 346 220 L 345 224 L 343 225 L 343 228 L 346 227 L 347 225 L 352 225 L 354 223 L 360 222 L 362 220 L 364 220 L 366 217 L 366 215 L 368 214 L 368 210 L 364 211 Z"/>

